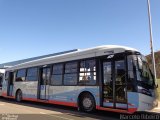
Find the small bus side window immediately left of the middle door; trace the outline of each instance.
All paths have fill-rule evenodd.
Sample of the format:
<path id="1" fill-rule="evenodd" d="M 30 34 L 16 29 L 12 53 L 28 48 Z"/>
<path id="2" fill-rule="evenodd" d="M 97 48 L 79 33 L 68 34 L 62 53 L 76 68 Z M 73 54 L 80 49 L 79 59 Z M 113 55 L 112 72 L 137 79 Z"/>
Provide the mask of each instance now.
<path id="1" fill-rule="evenodd" d="M 27 70 L 27 81 L 37 81 L 38 69 L 37 68 L 29 68 Z"/>

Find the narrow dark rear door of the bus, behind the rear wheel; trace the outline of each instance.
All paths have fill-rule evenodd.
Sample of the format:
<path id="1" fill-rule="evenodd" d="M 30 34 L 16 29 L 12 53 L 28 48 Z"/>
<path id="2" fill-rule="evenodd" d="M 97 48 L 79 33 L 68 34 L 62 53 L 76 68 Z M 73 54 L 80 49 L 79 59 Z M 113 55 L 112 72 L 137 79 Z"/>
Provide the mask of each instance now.
<path id="1" fill-rule="evenodd" d="M 7 85 L 7 96 L 12 96 L 13 93 L 13 72 L 8 72 L 8 85 Z"/>

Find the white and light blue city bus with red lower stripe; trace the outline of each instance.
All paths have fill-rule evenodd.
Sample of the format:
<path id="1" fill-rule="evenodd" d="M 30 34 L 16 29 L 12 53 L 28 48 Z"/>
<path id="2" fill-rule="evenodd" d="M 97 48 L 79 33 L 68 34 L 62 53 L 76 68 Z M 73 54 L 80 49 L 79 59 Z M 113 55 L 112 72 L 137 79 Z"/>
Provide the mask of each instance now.
<path id="1" fill-rule="evenodd" d="M 6 69 L 2 96 L 132 114 L 158 105 L 154 76 L 138 50 L 104 45 Z"/>

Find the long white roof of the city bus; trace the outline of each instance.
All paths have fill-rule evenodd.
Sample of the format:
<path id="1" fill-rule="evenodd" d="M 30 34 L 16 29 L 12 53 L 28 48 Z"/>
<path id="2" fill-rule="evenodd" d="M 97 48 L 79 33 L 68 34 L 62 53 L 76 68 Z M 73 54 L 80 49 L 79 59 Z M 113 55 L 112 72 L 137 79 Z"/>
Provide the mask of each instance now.
<path id="1" fill-rule="evenodd" d="M 70 53 L 62 54 L 62 55 L 50 56 L 42 59 L 25 62 L 22 64 L 15 65 L 13 67 L 7 68 L 6 70 L 16 70 L 16 69 L 22 69 L 22 68 L 28 68 L 28 67 L 66 62 L 66 61 L 74 61 L 78 59 L 85 59 L 85 58 L 121 53 L 127 50 L 138 52 L 138 50 L 134 48 L 126 47 L 126 46 L 103 45 L 103 46 L 98 46 L 98 47 L 88 48 L 83 50 L 78 49 L 77 51 L 73 51 Z"/>

